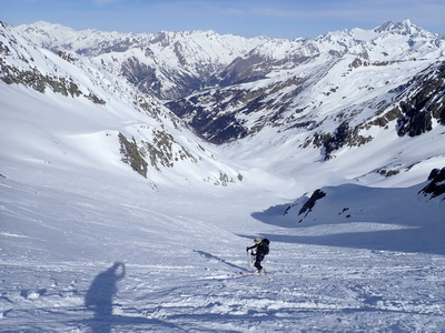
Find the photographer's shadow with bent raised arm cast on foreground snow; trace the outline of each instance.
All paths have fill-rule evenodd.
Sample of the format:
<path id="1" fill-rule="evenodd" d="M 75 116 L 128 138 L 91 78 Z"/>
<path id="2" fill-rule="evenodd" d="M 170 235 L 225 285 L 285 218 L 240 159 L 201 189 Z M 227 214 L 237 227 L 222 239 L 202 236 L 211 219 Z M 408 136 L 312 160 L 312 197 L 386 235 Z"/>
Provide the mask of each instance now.
<path id="1" fill-rule="evenodd" d="M 123 263 L 117 262 L 95 278 L 85 296 L 85 305 L 88 311 L 93 312 L 93 317 L 85 320 L 82 323 L 88 325 L 93 333 L 109 333 L 113 326 L 122 325 L 148 325 L 147 329 L 165 327 L 170 332 L 178 329 L 174 324 L 159 320 L 112 314 L 113 297 L 118 292 L 117 283 L 125 278 L 125 274 Z"/>

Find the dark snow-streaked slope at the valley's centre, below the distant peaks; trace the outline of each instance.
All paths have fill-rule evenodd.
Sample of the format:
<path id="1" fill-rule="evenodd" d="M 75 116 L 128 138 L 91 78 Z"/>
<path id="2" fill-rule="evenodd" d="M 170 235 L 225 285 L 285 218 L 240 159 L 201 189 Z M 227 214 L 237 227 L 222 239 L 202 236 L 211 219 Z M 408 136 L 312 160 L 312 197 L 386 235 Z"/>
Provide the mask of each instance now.
<path id="1" fill-rule="evenodd" d="M 293 77 L 258 89 L 208 89 L 187 99 L 168 102 L 166 107 L 185 120 L 197 134 L 221 144 L 256 133 L 265 125 L 280 127 L 286 121 L 284 114 L 289 108 L 294 110 L 289 105 L 303 91 L 304 83 L 305 80 Z M 293 89 L 289 90 L 289 87 Z M 284 91 L 283 98 L 270 98 L 271 93 L 279 91 Z M 294 115 L 299 112 L 301 110 L 295 110 Z M 261 113 L 261 117 L 255 122 L 246 122 L 246 115 L 255 118 L 254 113 Z"/>

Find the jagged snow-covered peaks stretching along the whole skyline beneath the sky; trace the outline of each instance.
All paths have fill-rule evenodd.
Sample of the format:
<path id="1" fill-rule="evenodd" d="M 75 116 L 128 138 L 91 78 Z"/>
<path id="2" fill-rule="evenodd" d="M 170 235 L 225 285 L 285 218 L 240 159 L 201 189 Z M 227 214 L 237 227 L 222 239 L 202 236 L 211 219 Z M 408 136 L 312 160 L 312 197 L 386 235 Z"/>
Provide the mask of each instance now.
<path id="1" fill-rule="evenodd" d="M 243 38 L 215 31 L 160 31 L 119 33 L 75 31 L 46 22 L 20 26 L 38 44 L 57 52 L 75 51 L 95 57 L 129 78 L 142 92 L 164 100 L 188 95 L 211 87 L 245 81 L 246 71 L 264 77 L 270 71 L 295 68 L 307 61 L 335 61 L 354 57 L 368 62 L 435 59 L 444 54 L 445 41 L 409 20 L 387 22 L 373 30 L 350 29 L 316 39 Z M 234 79 L 234 75 L 237 77 Z"/>

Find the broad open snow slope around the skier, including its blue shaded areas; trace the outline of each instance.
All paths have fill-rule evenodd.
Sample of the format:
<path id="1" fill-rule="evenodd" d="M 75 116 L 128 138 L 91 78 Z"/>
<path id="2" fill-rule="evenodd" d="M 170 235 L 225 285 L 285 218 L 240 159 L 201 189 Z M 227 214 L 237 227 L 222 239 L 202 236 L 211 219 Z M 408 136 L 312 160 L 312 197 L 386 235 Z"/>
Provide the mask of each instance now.
<path id="1" fill-rule="evenodd" d="M 387 178 L 386 189 L 369 188 L 382 182 L 375 174 L 345 184 L 357 183 L 347 176 L 364 168 L 360 153 L 355 161 L 350 152 L 329 161 L 336 176 L 332 165 L 306 160 L 293 180 L 283 175 L 297 169 L 291 161 L 277 173 L 257 161 L 245 168 L 243 185 L 159 182 L 154 190 L 103 154 L 108 137 L 87 148 L 73 140 L 77 127 L 97 124 L 56 108 L 67 98 L 3 83 L 1 93 L 0 331 L 445 329 L 445 209 L 442 198 L 418 195 L 423 184 L 413 178 L 416 168 L 421 179 L 443 161 Z M 6 112 L 7 97 L 23 103 Z M 60 118 L 47 104 L 38 108 L 43 97 L 63 111 Z M 38 119 L 28 102 L 40 110 Z M 61 125 L 71 118 L 72 127 Z M 55 124 L 58 140 L 72 140 L 53 141 Z M 377 157 L 379 165 L 387 159 Z M 333 182 L 298 223 L 304 192 Z M 289 204 L 295 209 L 284 216 Z M 249 269 L 245 248 L 257 235 L 271 241 L 265 262 L 271 274 L 239 275 Z"/>

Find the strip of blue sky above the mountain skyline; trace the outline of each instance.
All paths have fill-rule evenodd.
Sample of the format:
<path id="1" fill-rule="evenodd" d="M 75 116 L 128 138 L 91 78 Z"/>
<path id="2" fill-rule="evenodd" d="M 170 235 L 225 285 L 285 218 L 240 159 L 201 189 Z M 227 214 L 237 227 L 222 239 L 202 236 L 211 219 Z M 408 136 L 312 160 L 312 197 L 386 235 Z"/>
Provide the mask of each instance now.
<path id="1" fill-rule="evenodd" d="M 445 0 L 0 0 L 0 20 L 76 30 L 215 30 L 244 37 L 315 38 L 404 19 L 445 34 Z"/>

